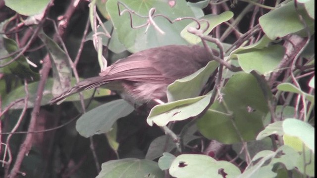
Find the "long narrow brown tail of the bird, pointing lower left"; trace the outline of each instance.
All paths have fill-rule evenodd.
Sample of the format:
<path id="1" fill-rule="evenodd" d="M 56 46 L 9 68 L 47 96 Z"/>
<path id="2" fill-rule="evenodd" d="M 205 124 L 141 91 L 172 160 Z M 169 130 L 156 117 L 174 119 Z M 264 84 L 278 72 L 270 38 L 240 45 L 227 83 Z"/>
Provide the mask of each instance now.
<path id="1" fill-rule="evenodd" d="M 49 104 L 60 104 L 61 101 L 63 101 L 65 98 L 67 98 L 68 96 L 83 91 L 83 90 L 87 90 L 87 89 L 94 89 L 96 87 L 100 87 L 102 85 L 107 84 L 109 81 L 105 81 L 103 80 L 102 76 L 97 76 L 97 77 L 92 77 L 92 78 L 88 78 L 86 80 L 80 81 L 78 82 L 74 87 L 68 89 L 67 91 L 61 93 L 59 96 L 54 97 Z"/>

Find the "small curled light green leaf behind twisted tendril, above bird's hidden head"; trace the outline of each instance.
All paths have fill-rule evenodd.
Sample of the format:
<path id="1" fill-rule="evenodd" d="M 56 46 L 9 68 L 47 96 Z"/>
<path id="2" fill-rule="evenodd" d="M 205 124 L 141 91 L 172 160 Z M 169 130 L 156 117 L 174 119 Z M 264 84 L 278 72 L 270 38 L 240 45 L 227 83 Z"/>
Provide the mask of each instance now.
<path id="1" fill-rule="evenodd" d="M 209 28 L 203 33 L 204 35 L 208 35 L 212 29 L 214 27 L 216 27 L 217 25 L 230 20 L 233 17 L 233 13 L 231 11 L 225 11 L 222 12 L 219 15 L 214 15 L 214 14 L 208 14 L 205 15 L 204 17 L 202 17 L 200 20 L 206 20 L 209 23 Z M 201 29 L 200 30 L 205 30 L 207 28 L 207 23 L 202 21 L 201 22 Z M 196 22 L 192 22 L 190 24 L 188 24 L 180 33 L 180 35 L 190 44 L 199 44 L 202 40 L 200 39 L 200 37 L 191 34 L 187 31 L 188 28 L 197 28 L 197 23 Z"/>

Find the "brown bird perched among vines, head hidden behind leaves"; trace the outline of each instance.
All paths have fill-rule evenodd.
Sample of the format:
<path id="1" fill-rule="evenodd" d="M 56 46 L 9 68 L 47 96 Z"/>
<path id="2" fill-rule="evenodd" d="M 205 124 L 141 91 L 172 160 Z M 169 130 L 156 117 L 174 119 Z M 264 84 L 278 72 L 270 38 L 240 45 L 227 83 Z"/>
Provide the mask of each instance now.
<path id="1" fill-rule="evenodd" d="M 199 45 L 166 45 L 139 51 L 108 66 L 99 76 L 77 83 L 50 103 L 100 86 L 119 93 L 132 104 L 151 100 L 166 102 L 167 86 L 198 71 L 210 58 L 208 51 Z"/>

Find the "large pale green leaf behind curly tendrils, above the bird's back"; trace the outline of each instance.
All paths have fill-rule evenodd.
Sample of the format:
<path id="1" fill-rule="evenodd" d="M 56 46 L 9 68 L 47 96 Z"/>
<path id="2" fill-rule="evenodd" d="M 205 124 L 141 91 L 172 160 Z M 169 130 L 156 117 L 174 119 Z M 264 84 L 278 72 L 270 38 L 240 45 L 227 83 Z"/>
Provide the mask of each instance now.
<path id="1" fill-rule="evenodd" d="M 111 17 L 112 24 L 118 33 L 120 42 L 132 53 L 140 50 L 163 46 L 163 45 L 187 45 L 188 43 L 180 37 L 179 33 L 191 20 L 181 20 L 170 24 L 167 19 L 159 16 L 155 17 L 154 21 L 159 28 L 164 32 L 161 34 L 157 29 L 150 25 L 149 28 L 142 27 L 132 29 L 130 26 L 130 16 L 125 11 L 121 16 L 118 12 L 118 0 L 108 0 L 106 9 Z M 187 6 L 186 1 L 177 1 L 176 5 L 170 7 L 168 3 L 162 0 L 120 0 L 128 8 L 133 10 L 135 14 L 143 16 L 149 15 L 149 10 L 154 7 L 157 14 L 162 14 L 170 20 L 179 17 L 194 17 L 191 8 Z M 119 4 L 120 11 L 126 9 L 122 4 Z M 132 14 L 133 27 L 147 23 L 147 18 L 141 18 Z M 147 30 L 146 30 L 147 29 Z"/>

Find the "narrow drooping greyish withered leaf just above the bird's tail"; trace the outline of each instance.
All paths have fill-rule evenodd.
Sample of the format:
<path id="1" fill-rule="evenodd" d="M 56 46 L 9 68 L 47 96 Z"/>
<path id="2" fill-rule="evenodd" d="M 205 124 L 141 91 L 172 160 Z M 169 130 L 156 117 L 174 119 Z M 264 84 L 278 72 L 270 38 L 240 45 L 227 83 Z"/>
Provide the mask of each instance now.
<path id="1" fill-rule="evenodd" d="M 40 31 L 38 36 L 50 54 L 54 78 L 52 93 L 54 96 L 58 96 L 71 86 L 72 73 L 70 63 L 65 51 L 53 39 L 48 37 L 43 31 Z"/>

